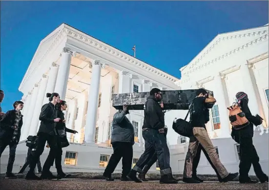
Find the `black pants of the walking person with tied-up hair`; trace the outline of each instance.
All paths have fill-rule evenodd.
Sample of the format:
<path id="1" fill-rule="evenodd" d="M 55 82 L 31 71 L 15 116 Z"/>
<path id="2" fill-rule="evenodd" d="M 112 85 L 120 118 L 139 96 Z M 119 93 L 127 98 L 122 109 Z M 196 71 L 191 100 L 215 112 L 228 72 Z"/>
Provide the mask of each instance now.
<path id="1" fill-rule="evenodd" d="M 49 171 L 49 169 L 51 167 L 51 163 L 53 163 L 52 159 L 54 159 L 54 157 L 55 157 L 55 167 L 57 169 L 57 172 L 60 173 L 62 171 L 61 156 L 59 154 L 59 146 L 58 146 L 58 142 L 57 142 L 57 136 L 56 135 L 49 135 L 47 133 L 39 133 L 38 139 L 37 139 L 37 149 L 34 152 L 33 158 L 31 160 L 29 172 L 34 172 L 34 169 L 36 168 L 37 162 L 40 159 L 40 156 L 44 151 L 46 141 L 48 142 L 48 144 L 50 146 L 51 156 L 47 157 L 47 159 L 44 163 L 42 172 Z"/>

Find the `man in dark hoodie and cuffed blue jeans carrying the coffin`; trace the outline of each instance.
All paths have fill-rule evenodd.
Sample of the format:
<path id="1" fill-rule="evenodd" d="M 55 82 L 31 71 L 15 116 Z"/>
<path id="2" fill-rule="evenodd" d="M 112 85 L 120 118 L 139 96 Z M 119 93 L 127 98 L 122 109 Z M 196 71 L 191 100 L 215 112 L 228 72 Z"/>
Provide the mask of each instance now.
<path id="1" fill-rule="evenodd" d="M 178 183 L 172 178 L 170 168 L 170 153 L 165 136 L 165 115 L 159 102 L 162 100 L 162 92 L 158 88 L 153 88 L 144 105 L 144 124 L 142 136 L 145 140 L 145 151 L 139 158 L 128 177 L 137 183 L 142 181 L 136 177 L 137 172 L 143 173 L 144 166 L 149 162 L 154 153 L 160 166 L 160 183 Z"/>

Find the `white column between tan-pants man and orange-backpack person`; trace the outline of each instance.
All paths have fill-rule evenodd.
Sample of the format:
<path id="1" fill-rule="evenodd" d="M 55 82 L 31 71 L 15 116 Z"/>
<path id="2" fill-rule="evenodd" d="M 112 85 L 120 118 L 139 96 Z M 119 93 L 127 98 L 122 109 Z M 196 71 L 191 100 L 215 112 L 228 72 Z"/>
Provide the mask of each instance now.
<path id="1" fill-rule="evenodd" d="M 221 123 L 221 137 L 230 137 L 230 121 L 229 121 L 229 113 L 227 109 L 226 102 L 226 90 L 224 89 L 223 81 L 221 76 L 214 77 L 215 88 L 213 90 L 214 98 L 216 99 L 216 104 L 219 108 L 219 116 Z"/>

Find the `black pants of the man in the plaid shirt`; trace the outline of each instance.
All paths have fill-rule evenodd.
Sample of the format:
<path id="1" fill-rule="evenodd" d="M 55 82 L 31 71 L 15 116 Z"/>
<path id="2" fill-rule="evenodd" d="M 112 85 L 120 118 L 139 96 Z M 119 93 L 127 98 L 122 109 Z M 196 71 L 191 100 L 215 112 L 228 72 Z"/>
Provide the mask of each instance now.
<path id="1" fill-rule="evenodd" d="M 17 144 L 11 143 L 10 140 L 0 139 L 0 158 L 4 149 L 7 146 L 9 146 L 9 158 L 8 158 L 6 172 L 11 173 L 13 169 L 13 164 L 15 161 Z"/>

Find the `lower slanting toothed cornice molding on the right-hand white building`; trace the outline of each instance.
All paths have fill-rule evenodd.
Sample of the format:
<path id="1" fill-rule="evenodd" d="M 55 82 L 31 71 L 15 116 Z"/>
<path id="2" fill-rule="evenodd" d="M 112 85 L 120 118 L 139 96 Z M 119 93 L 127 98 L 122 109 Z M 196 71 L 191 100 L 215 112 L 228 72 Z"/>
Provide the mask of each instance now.
<path id="1" fill-rule="evenodd" d="M 236 54 L 236 53 L 238 53 L 238 52 L 252 46 L 252 45 L 255 45 L 255 44 L 259 43 L 259 42 L 264 42 L 265 40 L 268 39 L 268 37 L 269 37 L 268 34 L 266 34 L 264 36 L 261 36 L 260 38 L 257 38 L 257 39 L 255 39 L 255 40 L 253 40 L 251 42 L 246 43 L 245 45 L 242 45 L 242 46 L 240 46 L 240 47 L 238 47 L 236 49 L 233 49 L 233 50 L 227 52 L 226 54 L 223 54 L 223 55 L 219 56 L 218 58 L 212 59 L 211 61 L 209 61 L 207 63 L 201 64 L 201 65 L 196 65 L 195 67 L 193 67 L 193 69 L 191 69 L 191 70 L 189 70 L 189 71 L 187 71 L 186 73 L 183 73 L 183 74 L 187 75 L 187 74 L 190 74 L 190 73 L 192 73 L 192 72 L 194 72 L 194 71 L 196 71 L 196 70 L 198 70 L 200 68 L 205 68 L 205 67 L 207 67 L 209 65 L 215 64 L 215 63 L 217 63 L 217 62 L 219 62 L 219 61 L 221 61 L 223 59 L 226 59 L 227 57 L 229 57 L 229 56 L 231 56 L 233 54 Z"/>

